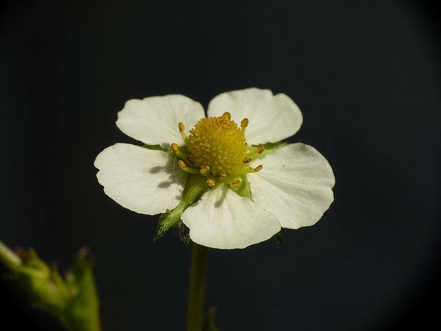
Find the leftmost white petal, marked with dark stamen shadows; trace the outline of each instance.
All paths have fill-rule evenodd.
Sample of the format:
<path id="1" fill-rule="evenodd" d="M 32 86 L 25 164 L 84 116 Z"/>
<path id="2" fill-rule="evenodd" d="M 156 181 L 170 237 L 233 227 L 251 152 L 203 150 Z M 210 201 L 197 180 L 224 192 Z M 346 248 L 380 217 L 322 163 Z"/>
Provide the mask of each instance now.
<path id="1" fill-rule="evenodd" d="M 187 177 L 165 152 L 116 143 L 99 153 L 94 165 L 105 194 L 134 212 L 154 215 L 181 201 Z"/>

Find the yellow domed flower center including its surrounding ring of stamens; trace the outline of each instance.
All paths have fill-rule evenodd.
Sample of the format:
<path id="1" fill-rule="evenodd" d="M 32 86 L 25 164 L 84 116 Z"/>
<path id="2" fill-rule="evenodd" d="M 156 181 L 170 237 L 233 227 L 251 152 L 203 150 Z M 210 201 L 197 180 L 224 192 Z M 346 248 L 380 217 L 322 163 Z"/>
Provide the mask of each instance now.
<path id="1" fill-rule="evenodd" d="M 181 159 L 178 161 L 181 169 L 191 174 L 201 174 L 207 177 L 207 184 L 216 185 L 223 181 L 229 185 L 238 185 L 239 176 L 250 172 L 258 172 L 263 167 L 258 165 L 250 168 L 247 163 L 252 157 L 265 150 L 265 146 L 248 146 L 245 139 L 245 129 L 248 119 L 240 122 L 240 128 L 231 120 L 229 112 L 220 117 L 201 119 L 189 131 L 189 137 L 184 133 L 183 123 L 179 123 L 179 132 L 185 142 L 185 147 L 179 148 L 172 143 L 172 150 Z"/>

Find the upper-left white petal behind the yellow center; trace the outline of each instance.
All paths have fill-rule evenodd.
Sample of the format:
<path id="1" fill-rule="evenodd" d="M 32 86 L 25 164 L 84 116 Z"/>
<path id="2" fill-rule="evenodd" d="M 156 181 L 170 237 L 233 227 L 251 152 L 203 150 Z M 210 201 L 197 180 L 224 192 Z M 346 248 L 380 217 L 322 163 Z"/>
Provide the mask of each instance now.
<path id="1" fill-rule="evenodd" d="M 181 94 L 169 94 L 127 101 L 118 113 L 116 126 L 143 143 L 170 148 L 171 143 L 183 144 L 179 122 L 183 122 L 187 133 L 203 117 L 201 103 Z"/>

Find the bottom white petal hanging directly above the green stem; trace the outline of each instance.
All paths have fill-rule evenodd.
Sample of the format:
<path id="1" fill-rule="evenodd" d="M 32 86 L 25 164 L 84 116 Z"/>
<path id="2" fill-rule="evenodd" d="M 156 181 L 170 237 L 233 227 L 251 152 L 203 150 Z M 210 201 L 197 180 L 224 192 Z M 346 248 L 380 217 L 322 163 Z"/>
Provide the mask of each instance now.
<path id="1" fill-rule="evenodd" d="M 245 248 L 271 238 L 280 223 L 256 203 L 220 183 L 187 208 L 181 219 L 195 243 L 212 248 Z"/>

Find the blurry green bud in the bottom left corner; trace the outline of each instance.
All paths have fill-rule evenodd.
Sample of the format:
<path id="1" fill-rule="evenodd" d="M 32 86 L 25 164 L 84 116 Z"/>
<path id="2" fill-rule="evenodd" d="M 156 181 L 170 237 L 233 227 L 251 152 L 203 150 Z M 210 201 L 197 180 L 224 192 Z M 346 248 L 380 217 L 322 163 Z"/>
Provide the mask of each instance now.
<path id="1" fill-rule="evenodd" d="M 0 241 L 0 261 L 12 273 L 12 281 L 32 300 L 34 307 L 57 317 L 68 330 L 99 331 L 99 301 L 92 277 L 89 252 L 79 251 L 63 279 L 57 264 L 48 266 L 37 252 L 12 252 Z"/>

